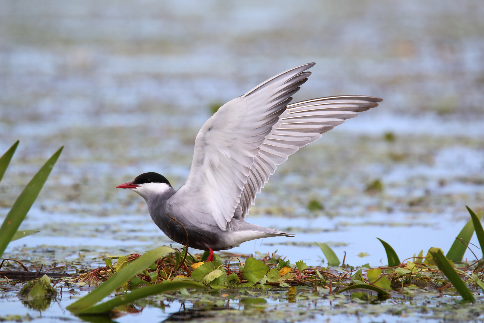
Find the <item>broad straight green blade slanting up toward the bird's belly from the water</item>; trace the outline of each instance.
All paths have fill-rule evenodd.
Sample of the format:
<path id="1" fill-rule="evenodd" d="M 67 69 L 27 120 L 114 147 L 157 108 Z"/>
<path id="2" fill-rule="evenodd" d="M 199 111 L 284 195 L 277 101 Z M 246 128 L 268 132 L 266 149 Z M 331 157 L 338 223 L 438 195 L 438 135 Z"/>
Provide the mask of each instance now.
<path id="1" fill-rule="evenodd" d="M 154 261 L 162 258 L 164 255 L 175 250 L 167 247 L 161 246 L 151 251 L 148 251 L 138 259 L 131 262 L 129 265 L 124 267 L 122 270 L 118 271 L 113 277 L 106 280 L 101 286 L 96 288 L 91 293 L 77 300 L 67 307 L 71 312 L 77 313 L 84 309 L 90 308 L 111 292 L 121 287 L 129 279 L 135 277 L 137 274 L 141 273 L 143 270 L 148 268 Z"/>

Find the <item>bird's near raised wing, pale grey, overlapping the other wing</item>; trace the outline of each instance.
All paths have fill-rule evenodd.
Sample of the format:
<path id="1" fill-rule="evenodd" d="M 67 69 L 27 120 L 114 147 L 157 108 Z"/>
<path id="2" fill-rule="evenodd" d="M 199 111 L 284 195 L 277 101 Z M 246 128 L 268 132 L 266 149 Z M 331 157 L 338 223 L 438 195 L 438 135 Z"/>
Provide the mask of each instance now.
<path id="1" fill-rule="evenodd" d="M 198 132 L 192 168 L 177 195 L 212 215 L 220 229 L 234 216 L 260 145 L 314 65 L 290 69 L 227 102 Z"/>

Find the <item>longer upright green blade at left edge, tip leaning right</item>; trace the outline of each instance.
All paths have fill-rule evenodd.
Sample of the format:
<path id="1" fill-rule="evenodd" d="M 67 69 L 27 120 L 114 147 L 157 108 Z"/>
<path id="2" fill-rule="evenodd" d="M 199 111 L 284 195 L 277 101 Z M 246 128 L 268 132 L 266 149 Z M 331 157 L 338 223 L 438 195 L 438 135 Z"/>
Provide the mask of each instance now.
<path id="1" fill-rule="evenodd" d="M 42 168 L 34 175 L 34 177 L 30 180 L 29 184 L 25 186 L 22 193 L 20 193 L 19 197 L 10 209 L 10 212 L 3 220 L 3 224 L 0 227 L 0 256 L 5 251 L 5 248 L 8 246 L 12 238 L 15 236 L 15 233 L 18 230 L 18 227 L 22 223 L 29 212 L 30 207 L 32 206 L 35 199 L 40 193 L 40 190 L 45 184 L 45 181 L 50 175 L 50 171 L 54 167 L 54 164 L 57 162 L 57 159 L 61 155 L 62 146 L 52 157 L 47 160 L 47 162 L 42 166 Z"/>

